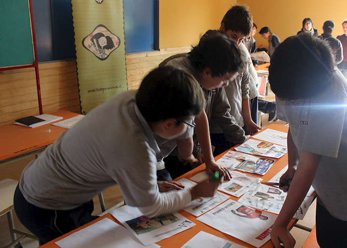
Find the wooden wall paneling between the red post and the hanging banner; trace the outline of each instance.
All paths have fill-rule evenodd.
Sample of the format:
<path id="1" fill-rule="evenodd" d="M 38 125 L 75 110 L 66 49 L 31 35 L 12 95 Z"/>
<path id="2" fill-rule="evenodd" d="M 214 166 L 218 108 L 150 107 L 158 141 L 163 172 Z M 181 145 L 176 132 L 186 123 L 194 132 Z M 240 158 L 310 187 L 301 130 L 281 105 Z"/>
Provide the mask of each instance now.
<path id="1" fill-rule="evenodd" d="M 80 113 L 76 61 L 41 63 L 39 69 L 43 112 Z"/>

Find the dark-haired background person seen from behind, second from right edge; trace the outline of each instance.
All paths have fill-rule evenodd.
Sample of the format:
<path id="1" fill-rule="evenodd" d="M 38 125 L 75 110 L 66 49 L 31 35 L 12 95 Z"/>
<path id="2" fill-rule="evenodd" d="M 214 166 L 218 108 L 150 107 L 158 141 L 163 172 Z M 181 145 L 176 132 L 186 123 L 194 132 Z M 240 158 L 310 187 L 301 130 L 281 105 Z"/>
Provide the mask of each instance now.
<path id="1" fill-rule="evenodd" d="M 323 34 L 319 36 L 319 38 L 326 40 L 329 43 L 330 47 L 334 51 L 335 62 L 336 64 L 339 64 L 342 62 L 344 57 L 342 54 L 341 41 L 339 41 L 338 39 L 334 38 L 331 35 L 334 31 L 334 28 L 335 28 L 335 23 L 332 20 L 325 21 L 323 25 Z"/>

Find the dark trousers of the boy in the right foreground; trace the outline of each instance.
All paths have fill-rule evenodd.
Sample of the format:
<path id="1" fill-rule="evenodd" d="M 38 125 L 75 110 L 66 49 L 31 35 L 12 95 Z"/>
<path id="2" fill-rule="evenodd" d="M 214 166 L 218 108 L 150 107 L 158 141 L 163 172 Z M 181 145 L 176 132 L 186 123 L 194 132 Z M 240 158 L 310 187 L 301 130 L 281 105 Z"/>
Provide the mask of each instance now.
<path id="1" fill-rule="evenodd" d="M 321 248 L 346 247 L 347 221 L 334 218 L 317 202 L 316 235 Z"/>

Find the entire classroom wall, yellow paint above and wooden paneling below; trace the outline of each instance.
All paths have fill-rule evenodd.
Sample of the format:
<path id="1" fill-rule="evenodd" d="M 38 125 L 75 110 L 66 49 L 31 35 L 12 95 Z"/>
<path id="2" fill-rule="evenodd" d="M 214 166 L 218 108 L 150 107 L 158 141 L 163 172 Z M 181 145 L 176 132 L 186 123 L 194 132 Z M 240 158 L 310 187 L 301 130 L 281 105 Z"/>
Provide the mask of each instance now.
<path id="1" fill-rule="evenodd" d="M 160 51 L 126 55 L 128 89 L 137 89 L 142 78 L 164 59 L 173 54 L 190 51 L 208 29 L 218 29 L 220 22 L 236 0 L 160 0 L 159 46 Z M 269 26 L 283 41 L 295 35 L 302 20 L 310 17 L 321 33 L 327 19 L 335 21 L 333 35 L 342 34 L 342 21 L 347 18 L 346 0 L 335 0 L 325 6 L 322 0 L 290 2 L 275 0 L 237 0 L 249 6 L 258 31 Z M 255 35 L 258 47 L 268 43 Z M 78 82 L 75 61 L 39 64 L 41 95 L 45 114 L 61 109 L 79 113 Z M 29 115 L 38 115 L 37 89 L 33 68 L 0 71 L 0 124 Z"/>

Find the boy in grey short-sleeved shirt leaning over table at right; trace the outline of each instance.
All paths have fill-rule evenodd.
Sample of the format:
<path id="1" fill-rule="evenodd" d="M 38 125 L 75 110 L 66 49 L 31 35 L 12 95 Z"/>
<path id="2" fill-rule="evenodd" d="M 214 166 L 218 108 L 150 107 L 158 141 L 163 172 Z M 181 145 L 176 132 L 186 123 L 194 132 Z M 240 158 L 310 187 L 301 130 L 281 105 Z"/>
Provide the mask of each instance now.
<path id="1" fill-rule="evenodd" d="M 289 123 L 288 171 L 292 179 L 271 239 L 293 248 L 287 226 L 309 187 L 317 192 L 316 228 L 321 248 L 346 247 L 347 81 L 335 66 L 329 45 L 312 35 L 292 36 L 275 50 L 269 82 L 277 116 Z"/>

